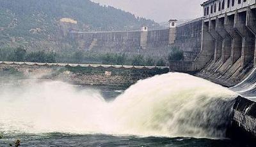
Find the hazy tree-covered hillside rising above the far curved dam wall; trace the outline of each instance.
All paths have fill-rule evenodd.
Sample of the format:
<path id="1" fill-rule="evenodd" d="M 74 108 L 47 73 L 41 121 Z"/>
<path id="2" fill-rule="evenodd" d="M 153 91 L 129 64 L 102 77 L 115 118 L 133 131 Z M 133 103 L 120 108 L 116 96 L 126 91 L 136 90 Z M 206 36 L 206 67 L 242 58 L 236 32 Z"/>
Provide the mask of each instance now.
<path id="1" fill-rule="evenodd" d="M 1 0 L 0 48 L 19 45 L 31 50 L 72 48 L 58 45 L 61 18 L 76 20 L 77 29 L 83 31 L 138 30 L 141 25 L 159 26 L 152 20 L 89 0 Z"/>

